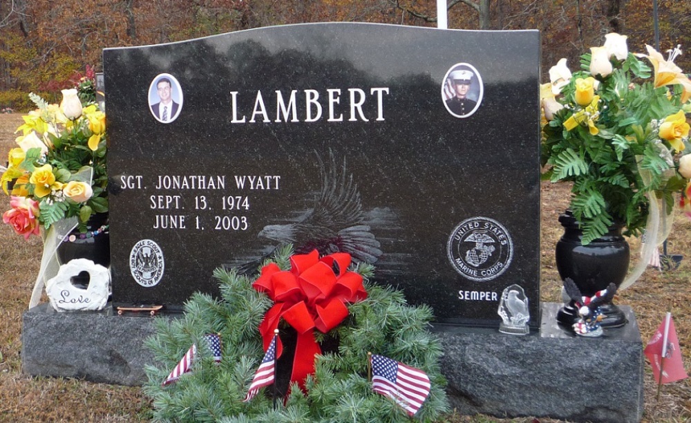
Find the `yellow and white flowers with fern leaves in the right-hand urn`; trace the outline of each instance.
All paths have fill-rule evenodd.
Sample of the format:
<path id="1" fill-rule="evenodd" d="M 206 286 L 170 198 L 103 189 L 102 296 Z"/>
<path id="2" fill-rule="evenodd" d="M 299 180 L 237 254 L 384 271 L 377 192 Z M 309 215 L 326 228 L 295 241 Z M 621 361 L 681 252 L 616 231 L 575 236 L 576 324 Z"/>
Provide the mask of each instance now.
<path id="1" fill-rule="evenodd" d="M 569 209 L 584 245 L 615 224 L 641 235 L 650 198 L 671 214 L 681 193 L 691 218 L 691 81 L 673 62 L 681 51 L 665 60 L 647 46 L 647 55 L 634 55 L 626 38 L 606 35 L 574 73 L 560 59 L 540 89 L 543 178 L 574 182 Z"/>

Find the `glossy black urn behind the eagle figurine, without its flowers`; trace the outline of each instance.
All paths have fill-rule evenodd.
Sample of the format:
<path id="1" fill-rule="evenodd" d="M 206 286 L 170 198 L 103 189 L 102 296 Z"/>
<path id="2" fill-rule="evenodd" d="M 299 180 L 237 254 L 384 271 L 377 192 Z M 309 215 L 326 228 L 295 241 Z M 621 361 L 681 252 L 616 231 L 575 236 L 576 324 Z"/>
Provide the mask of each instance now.
<path id="1" fill-rule="evenodd" d="M 606 289 L 609 283 L 619 288 L 629 271 L 630 261 L 629 244 L 621 234 L 623 226 L 612 225 L 607 234 L 583 245 L 583 231 L 571 212 L 559 216 L 559 223 L 564 227 L 564 235 L 556 245 L 556 264 L 562 281 L 571 278 L 584 297 L 592 297 Z M 605 303 L 601 309 L 605 314 L 601 326 L 618 328 L 626 324 L 624 313 L 612 302 Z M 578 319 L 578 308 L 573 300 L 557 313 L 557 321 L 569 328 Z"/>

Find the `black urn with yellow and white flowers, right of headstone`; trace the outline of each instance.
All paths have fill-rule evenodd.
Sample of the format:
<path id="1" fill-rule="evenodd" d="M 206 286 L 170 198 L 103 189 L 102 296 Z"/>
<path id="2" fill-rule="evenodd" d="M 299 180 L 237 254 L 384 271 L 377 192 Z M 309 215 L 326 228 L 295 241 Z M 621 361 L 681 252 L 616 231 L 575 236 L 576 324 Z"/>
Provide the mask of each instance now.
<path id="1" fill-rule="evenodd" d="M 691 215 L 691 81 L 671 56 L 665 60 L 650 46 L 647 54 L 629 53 L 623 35 L 605 39 L 581 56 L 579 71 L 571 73 L 561 59 L 541 89 L 543 178 L 573 184 L 559 219 L 565 234 L 557 267 L 587 297 L 609 283 L 625 288 L 635 281 L 667 236 L 677 202 Z M 626 278 L 623 236 L 644 233 L 643 265 Z M 605 308 L 603 326 L 625 324 L 621 310 Z M 558 320 L 577 319 L 570 301 Z"/>

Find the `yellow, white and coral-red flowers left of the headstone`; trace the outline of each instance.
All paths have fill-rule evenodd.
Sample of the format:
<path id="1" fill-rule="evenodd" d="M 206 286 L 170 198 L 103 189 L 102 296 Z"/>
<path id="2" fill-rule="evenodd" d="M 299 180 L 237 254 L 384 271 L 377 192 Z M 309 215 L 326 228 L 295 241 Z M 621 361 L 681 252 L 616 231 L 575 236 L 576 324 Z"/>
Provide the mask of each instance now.
<path id="1" fill-rule="evenodd" d="M 84 79 L 77 88 L 93 86 Z M 62 90 L 59 105 L 31 93 L 38 109 L 17 129 L 19 147 L 10 150 L 0 180 L 11 198 L 3 222 L 26 239 L 64 218 L 77 218 L 86 232 L 93 214 L 108 212 L 106 116 L 95 95 L 77 88 Z"/>

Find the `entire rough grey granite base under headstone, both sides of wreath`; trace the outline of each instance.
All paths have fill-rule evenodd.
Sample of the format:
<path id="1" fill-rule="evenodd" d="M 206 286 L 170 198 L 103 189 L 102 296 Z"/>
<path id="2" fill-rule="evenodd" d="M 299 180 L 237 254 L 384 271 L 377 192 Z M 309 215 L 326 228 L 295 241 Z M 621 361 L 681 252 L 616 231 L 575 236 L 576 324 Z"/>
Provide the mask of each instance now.
<path id="1" fill-rule="evenodd" d="M 462 415 L 552 417 L 572 422 L 639 422 L 643 415 L 643 344 L 629 323 L 596 339 L 558 326 L 561 304 L 542 303 L 540 331 L 515 337 L 489 328 L 437 325 L 452 408 Z M 140 385 L 153 355 L 143 341 L 149 317 L 59 313 L 48 304 L 23 316 L 22 368 L 29 375 Z"/>

